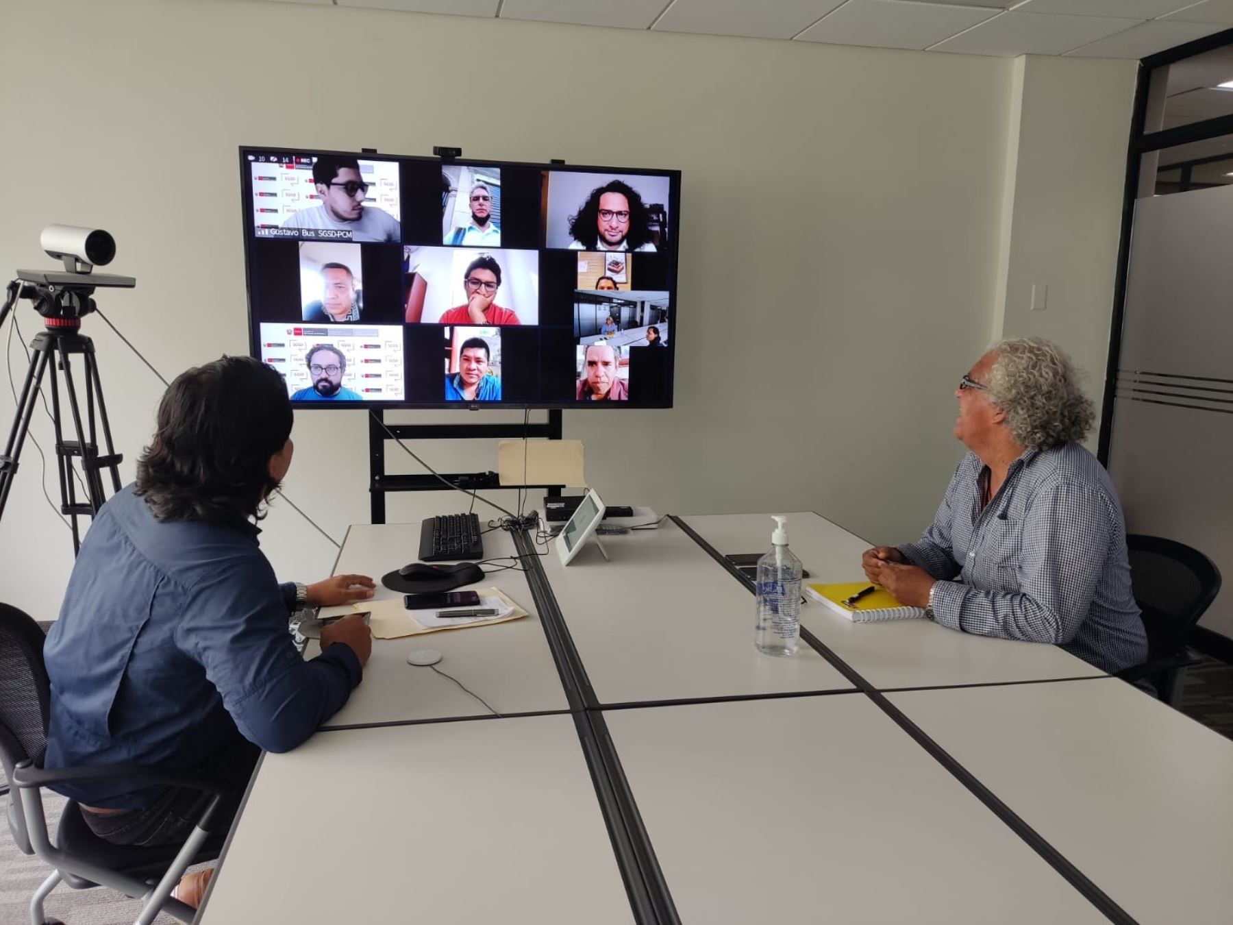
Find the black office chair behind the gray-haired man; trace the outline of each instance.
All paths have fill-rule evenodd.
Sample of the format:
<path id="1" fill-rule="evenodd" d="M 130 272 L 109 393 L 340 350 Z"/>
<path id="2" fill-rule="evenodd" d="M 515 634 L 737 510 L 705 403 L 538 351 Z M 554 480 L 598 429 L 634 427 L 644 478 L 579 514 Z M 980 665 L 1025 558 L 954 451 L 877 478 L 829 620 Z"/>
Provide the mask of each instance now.
<path id="1" fill-rule="evenodd" d="M 1219 593 L 1221 572 L 1197 549 L 1176 540 L 1129 534 L 1126 546 L 1134 601 L 1148 634 L 1148 660 L 1117 672 L 1117 677 L 1129 682 L 1147 678 L 1161 701 L 1176 707 L 1186 668 L 1198 664 L 1186 641 Z"/>

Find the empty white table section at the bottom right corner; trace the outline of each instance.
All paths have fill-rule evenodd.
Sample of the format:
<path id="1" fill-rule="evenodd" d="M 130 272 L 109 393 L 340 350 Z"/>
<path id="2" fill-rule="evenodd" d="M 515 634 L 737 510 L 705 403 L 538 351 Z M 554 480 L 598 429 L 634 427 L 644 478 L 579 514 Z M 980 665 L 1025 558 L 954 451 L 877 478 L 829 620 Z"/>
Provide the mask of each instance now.
<path id="1" fill-rule="evenodd" d="M 1233 741 L 1121 682 L 887 697 L 1141 925 L 1233 921 Z"/>

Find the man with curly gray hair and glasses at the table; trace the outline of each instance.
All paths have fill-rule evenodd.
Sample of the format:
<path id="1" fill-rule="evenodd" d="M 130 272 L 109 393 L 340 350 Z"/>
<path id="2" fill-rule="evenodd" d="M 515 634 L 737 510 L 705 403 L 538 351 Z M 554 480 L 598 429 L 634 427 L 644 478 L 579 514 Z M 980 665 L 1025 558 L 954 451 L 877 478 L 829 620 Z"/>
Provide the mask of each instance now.
<path id="1" fill-rule="evenodd" d="M 1108 672 L 1147 659 L 1126 524 L 1108 474 L 1079 443 L 1095 417 L 1070 359 L 1002 340 L 959 382 L 968 448 L 919 543 L 875 546 L 869 581 L 963 633 L 1053 643 Z"/>

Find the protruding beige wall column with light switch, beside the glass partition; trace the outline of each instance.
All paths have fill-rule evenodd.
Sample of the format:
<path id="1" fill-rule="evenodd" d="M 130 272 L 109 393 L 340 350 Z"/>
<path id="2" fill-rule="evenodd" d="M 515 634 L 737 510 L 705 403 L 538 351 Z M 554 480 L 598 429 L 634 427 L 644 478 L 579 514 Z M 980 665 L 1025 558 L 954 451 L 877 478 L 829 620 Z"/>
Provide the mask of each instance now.
<path id="1" fill-rule="evenodd" d="M 993 340 L 1043 337 L 1105 387 L 1138 62 L 1025 56 L 1012 64 Z M 1032 310 L 1032 286 L 1044 307 Z M 1097 417 L 1099 421 L 1099 417 Z M 1088 444 L 1095 450 L 1097 429 Z"/>

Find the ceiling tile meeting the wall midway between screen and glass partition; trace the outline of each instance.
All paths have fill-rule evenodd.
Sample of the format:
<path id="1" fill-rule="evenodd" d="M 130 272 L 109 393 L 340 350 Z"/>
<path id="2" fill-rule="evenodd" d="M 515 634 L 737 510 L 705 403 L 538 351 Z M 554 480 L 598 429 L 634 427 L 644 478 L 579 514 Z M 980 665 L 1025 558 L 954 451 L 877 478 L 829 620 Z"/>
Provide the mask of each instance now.
<path id="1" fill-rule="evenodd" d="M 848 0 L 797 37 L 806 42 L 874 48 L 928 48 L 996 15 L 997 10 L 989 7 Z"/>

